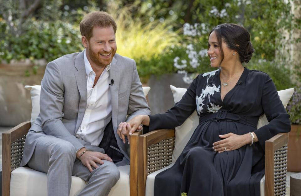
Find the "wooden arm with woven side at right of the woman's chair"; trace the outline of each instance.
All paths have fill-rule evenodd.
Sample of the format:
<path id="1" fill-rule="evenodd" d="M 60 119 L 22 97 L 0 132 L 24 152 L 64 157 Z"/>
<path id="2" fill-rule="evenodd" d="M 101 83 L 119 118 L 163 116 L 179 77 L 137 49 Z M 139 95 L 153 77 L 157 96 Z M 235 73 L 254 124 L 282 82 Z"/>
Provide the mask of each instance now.
<path id="1" fill-rule="evenodd" d="M 285 195 L 288 133 L 280 133 L 265 142 L 265 196 Z"/>

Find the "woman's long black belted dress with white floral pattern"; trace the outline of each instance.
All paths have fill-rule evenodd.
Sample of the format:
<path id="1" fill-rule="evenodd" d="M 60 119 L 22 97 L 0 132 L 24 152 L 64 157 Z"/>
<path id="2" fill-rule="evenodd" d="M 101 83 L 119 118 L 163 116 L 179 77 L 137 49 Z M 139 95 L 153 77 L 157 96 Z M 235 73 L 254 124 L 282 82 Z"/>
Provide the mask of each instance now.
<path id="1" fill-rule="evenodd" d="M 175 164 L 155 178 L 155 196 L 259 196 L 264 175 L 264 142 L 290 131 L 289 115 L 272 79 L 245 68 L 236 86 L 221 100 L 220 70 L 199 75 L 175 106 L 150 116 L 149 130 L 180 126 L 196 109 L 199 124 Z M 268 125 L 256 129 L 266 114 Z M 217 153 L 219 135 L 254 131 L 259 142 Z"/>

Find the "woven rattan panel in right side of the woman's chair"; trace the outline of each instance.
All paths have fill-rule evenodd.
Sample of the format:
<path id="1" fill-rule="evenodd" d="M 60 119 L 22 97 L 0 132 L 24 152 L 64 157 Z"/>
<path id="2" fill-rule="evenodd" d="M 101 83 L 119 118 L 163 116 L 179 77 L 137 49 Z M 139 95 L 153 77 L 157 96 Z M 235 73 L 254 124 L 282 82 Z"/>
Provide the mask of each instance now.
<path id="1" fill-rule="evenodd" d="M 274 193 L 275 196 L 285 196 L 288 145 L 275 151 L 274 156 Z"/>

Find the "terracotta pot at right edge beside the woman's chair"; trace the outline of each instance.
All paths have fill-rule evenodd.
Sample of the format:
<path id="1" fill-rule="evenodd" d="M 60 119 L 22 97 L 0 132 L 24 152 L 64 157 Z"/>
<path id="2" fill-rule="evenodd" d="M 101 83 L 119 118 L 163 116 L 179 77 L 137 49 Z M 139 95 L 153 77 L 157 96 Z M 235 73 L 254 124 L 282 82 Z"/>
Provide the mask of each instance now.
<path id="1" fill-rule="evenodd" d="M 301 125 L 292 124 L 288 141 L 288 171 L 301 171 Z"/>

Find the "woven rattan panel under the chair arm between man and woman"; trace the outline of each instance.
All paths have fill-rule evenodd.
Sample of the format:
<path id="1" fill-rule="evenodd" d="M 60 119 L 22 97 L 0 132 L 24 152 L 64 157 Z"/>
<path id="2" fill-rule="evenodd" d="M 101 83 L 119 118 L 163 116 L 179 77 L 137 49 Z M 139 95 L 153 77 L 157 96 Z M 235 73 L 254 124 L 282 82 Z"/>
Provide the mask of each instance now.
<path id="1" fill-rule="evenodd" d="M 167 138 L 147 148 L 147 174 L 172 163 L 175 137 Z"/>

